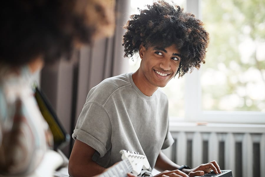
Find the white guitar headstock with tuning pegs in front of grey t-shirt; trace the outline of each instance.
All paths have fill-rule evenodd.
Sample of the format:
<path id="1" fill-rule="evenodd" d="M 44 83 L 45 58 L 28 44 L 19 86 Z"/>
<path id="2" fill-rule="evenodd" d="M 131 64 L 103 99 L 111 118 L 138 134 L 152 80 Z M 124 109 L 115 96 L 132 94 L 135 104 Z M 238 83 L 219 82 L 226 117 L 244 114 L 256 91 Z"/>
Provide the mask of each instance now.
<path id="1" fill-rule="evenodd" d="M 121 150 L 122 160 L 128 159 L 132 165 L 132 173 L 138 175 L 142 169 L 149 169 L 150 165 L 147 158 L 139 153 Z"/>

